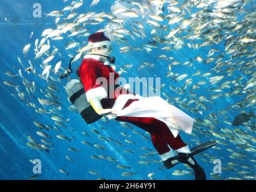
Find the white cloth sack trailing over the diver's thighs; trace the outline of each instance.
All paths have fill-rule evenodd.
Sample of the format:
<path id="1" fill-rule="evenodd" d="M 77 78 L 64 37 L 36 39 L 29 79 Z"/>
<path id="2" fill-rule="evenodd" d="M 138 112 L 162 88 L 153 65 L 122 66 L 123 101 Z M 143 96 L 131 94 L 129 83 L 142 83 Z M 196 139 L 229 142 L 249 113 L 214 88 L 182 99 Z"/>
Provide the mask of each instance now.
<path id="1" fill-rule="evenodd" d="M 133 101 L 130 106 L 117 111 L 115 116 L 132 116 L 144 118 L 156 118 L 164 122 L 174 137 L 178 136 L 180 130 L 191 134 L 195 119 L 172 106 L 161 97 L 145 97 Z"/>

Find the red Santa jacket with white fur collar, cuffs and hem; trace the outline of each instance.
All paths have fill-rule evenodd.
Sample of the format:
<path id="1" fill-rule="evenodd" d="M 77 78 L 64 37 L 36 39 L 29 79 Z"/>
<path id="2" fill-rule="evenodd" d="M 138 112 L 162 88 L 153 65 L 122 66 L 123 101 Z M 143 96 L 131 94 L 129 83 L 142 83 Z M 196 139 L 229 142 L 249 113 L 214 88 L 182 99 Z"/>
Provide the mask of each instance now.
<path id="1" fill-rule="evenodd" d="M 129 99 L 138 98 L 138 95 L 115 85 L 115 80 L 119 77 L 119 74 L 110 65 L 103 64 L 99 56 L 87 55 L 82 61 L 78 73 L 87 100 L 90 101 L 91 98 L 95 97 L 99 98 L 103 109 L 115 107 L 115 109 L 121 110 Z M 111 73 L 112 77 L 114 74 L 114 78 L 110 77 Z M 107 86 L 100 85 L 99 77 L 105 78 Z M 111 86 L 113 89 L 111 89 Z M 111 98 L 111 96 L 114 96 L 114 98 Z"/>

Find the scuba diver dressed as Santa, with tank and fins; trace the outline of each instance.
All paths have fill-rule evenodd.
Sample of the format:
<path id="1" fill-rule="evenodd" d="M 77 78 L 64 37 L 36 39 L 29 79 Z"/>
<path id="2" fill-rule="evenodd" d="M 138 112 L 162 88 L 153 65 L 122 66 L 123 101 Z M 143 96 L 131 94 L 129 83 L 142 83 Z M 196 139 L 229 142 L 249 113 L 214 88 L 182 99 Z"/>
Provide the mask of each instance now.
<path id="1" fill-rule="evenodd" d="M 191 134 L 194 119 L 160 97 L 144 98 L 115 85 L 119 74 L 109 64 L 114 64 L 115 58 L 109 56 L 111 40 L 103 32 L 91 34 L 88 37 L 88 46 L 91 46 L 90 52 L 84 56 L 77 71 L 81 83 L 74 80 L 66 86 L 70 101 L 78 108 L 87 124 L 102 116 L 130 122 L 151 134 L 153 146 L 166 169 L 177 163 L 184 163 L 194 169 L 195 179 L 206 179 L 204 170 L 178 134 L 180 130 Z M 114 78 L 111 78 L 111 74 Z M 101 85 L 102 78 L 106 80 L 107 86 Z M 76 85 L 78 86 L 75 88 Z M 111 85 L 114 85 L 112 93 Z M 85 106 L 81 107 L 83 104 Z M 209 148 L 204 146 L 204 149 L 207 147 Z"/>

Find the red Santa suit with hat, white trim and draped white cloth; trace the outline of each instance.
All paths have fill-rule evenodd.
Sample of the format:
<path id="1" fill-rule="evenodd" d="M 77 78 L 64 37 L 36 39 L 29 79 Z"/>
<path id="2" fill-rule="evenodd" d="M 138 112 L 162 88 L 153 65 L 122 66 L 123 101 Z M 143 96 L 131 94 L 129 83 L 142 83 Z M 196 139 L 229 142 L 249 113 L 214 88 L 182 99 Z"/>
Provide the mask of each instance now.
<path id="1" fill-rule="evenodd" d="M 109 46 L 110 40 L 103 32 L 97 32 L 88 38 L 93 47 Z M 114 78 L 110 78 L 110 74 Z M 191 133 L 194 119 L 160 97 L 141 97 L 121 86 L 114 86 L 114 97 L 110 97 L 109 87 L 114 85 L 119 74 L 106 62 L 106 57 L 88 53 L 79 67 L 79 77 L 85 89 L 87 100 L 98 100 L 103 109 L 115 109 L 116 115 L 107 115 L 109 119 L 130 122 L 151 134 L 151 140 L 166 168 L 172 167 L 175 156 L 171 149 L 180 154 L 190 154 L 190 149 L 178 135 L 179 131 Z M 108 87 L 97 80 L 104 77 Z M 111 84 L 112 83 L 112 84 Z M 116 90 L 118 89 L 118 91 Z M 171 149 L 170 149 L 171 148 Z M 190 157 L 187 157 L 188 160 Z M 194 158 L 192 158 L 192 161 Z M 191 158 L 190 158 L 191 161 Z M 194 162 L 195 164 L 196 162 Z M 192 163 L 193 164 L 193 163 Z"/>

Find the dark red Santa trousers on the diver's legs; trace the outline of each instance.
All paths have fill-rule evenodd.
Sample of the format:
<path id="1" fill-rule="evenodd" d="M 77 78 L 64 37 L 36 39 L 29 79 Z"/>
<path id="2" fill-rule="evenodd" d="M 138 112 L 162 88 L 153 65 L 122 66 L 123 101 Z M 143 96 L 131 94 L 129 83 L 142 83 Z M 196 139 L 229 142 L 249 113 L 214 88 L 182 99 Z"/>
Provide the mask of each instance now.
<path id="1" fill-rule="evenodd" d="M 133 101 L 137 100 L 128 100 L 123 108 L 129 106 Z M 167 125 L 158 119 L 118 116 L 116 120 L 130 122 L 133 125 L 148 131 L 151 134 L 154 148 L 156 148 L 159 155 L 170 151 L 168 145 L 174 150 L 186 146 L 186 143 L 183 142 L 180 136 L 174 137 Z"/>

